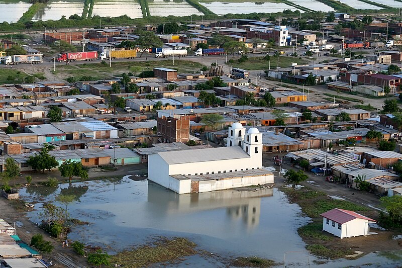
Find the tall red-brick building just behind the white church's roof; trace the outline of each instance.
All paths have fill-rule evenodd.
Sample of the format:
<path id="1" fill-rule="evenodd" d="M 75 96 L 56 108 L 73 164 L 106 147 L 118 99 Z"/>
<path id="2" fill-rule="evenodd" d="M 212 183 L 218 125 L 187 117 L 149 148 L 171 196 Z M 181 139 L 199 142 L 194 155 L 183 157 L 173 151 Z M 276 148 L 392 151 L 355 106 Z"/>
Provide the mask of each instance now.
<path id="1" fill-rule="evenodd" d="M 173 115 L 157 118 L 157 133 L 164 142 L 187 143 L 190 135 L 190 120 L 186 116 Z"/>

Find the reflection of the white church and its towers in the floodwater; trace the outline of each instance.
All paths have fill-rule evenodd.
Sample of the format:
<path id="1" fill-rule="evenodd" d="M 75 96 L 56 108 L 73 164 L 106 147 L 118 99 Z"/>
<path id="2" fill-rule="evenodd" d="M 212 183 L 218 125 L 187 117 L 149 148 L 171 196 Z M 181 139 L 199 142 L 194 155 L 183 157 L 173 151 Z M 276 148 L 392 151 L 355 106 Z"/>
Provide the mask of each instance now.
<path id="1" fill-rule="evenodd" d="M 232 222 L 240 220 L 249 229 L 259 224 L 261 198 L 270 196 L 273 196 L 273 188 L 178 195 L 148 181 L 148 202 L 160 208 L 159 213 L 183 214 L 226 208 L 226 215 Z"/>

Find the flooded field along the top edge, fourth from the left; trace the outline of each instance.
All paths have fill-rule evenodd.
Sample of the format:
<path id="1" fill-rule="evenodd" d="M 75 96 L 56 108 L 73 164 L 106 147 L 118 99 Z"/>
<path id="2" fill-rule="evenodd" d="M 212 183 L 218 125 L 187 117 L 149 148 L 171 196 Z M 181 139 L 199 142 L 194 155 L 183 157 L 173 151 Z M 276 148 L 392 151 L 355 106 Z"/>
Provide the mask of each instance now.
<path id="1" fill-rule="evenodd" d="M 191 7 L 184 0 L 153 0 L 148 2 L 149 12 L 151 16 L 167 17 L 173 16 L 189 16 L 204 15 L 195 8 Z"/>

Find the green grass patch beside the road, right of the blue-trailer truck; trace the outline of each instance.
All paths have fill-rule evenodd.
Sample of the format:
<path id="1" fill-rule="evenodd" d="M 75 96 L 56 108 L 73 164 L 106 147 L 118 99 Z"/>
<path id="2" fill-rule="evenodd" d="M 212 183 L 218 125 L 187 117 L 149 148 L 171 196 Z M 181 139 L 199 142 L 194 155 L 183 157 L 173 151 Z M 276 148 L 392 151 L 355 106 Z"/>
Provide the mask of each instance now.
<path id="1" fill-rule="evenodd" d="M 229 58 L 228 58 L 229 60 Z M 239 63 L 237 59 L 233 59 L 233 63 L 226 63 L 229 66 L 235 68 L 241 68 L 244 70 L 267 70 L 269 68 L 269 61 L 265 60 L 264 57 L 248 57 L 245 62 Z M 292 63 L 297 62 L 297 64 L 305 64 L 307 60 L 294 58 L 290 56 L 279 56 L 279 67 L 289 67 Z M 275 56 L 271 56 L 271 69 L 276 68 L 277 66 L 277 58 Z"/>

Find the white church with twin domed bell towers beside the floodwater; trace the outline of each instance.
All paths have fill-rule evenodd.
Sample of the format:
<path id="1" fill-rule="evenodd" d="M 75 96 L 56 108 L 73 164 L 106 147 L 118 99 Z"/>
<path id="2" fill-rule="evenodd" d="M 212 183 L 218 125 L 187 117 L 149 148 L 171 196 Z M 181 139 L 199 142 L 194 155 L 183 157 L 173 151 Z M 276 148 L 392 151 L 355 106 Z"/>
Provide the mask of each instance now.
<path id="1" fill-rule="evenodd" d="M 262 134 L 234 123 L 227 147 L 149 155 L 148 180 L 187 194 L 270 184 L 273 174 L 262 167 Z"/>

